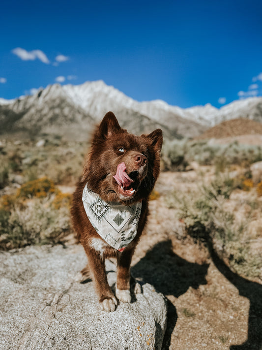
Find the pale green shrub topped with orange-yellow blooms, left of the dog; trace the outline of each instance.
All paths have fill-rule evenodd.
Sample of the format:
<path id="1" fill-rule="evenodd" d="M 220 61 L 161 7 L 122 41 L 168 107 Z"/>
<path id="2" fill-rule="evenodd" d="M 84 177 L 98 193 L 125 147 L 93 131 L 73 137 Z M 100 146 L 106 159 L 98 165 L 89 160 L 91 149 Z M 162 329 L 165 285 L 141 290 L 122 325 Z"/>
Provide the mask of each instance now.
<path id="1" fill-rule="evenodd" d="M 0 198 L 0 249 L 55 244 L 72 232 L 69 194 L 61 193 L 47 178 L 30 181 L 21 189 Z"/>

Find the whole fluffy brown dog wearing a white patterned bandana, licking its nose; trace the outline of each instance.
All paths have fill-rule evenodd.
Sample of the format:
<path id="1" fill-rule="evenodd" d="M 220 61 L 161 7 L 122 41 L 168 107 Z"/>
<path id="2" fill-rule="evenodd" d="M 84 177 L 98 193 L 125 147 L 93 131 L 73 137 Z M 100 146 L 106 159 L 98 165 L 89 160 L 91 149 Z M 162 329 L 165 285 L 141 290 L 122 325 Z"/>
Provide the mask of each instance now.
<path id="1" fill-rule="evenodd" d="M 148 197 L 160 170 L 162 131 L 136 136 L 108 112 L 94 133 L 71 208 L 102 310 L 114 311 L 105 258 L 117 258 L 116 297 L 130 302 L 130 263 L 146 224 Z M 103 238 L 102 238 L 103 237 Z"/>

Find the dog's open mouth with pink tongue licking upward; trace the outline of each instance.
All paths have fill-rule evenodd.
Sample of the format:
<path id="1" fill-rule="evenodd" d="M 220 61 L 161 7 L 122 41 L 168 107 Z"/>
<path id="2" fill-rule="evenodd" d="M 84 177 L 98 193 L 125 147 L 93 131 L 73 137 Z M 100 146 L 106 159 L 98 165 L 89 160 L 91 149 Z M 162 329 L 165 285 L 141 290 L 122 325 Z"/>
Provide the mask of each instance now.
<path id="1" fill-rule="evenodd" d="M 133 197 L 137 191 L 138 171 L 132 171 L 129 175 L 126 173 L 125 163 L 117 165 L 116 175 L 113 176 L 118 184 L 118 192 L 124 197 Z"/>

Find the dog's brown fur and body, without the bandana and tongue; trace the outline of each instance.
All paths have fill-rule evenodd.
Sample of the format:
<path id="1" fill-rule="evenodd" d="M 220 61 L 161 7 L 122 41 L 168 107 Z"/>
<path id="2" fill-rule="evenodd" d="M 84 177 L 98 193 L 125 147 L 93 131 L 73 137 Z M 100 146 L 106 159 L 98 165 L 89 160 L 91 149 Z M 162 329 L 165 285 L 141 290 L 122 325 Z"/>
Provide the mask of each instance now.
<path id="1" fill-rule="evenodd" d="M 162 141 L 160 129 L 149 135 L 129 134 L 119 126 L 112 112 L 105 115 L 94 133 L 82 178 L 73 194 L 71 215 L 88 259 L 88 267 L 82 270 L 82 274 L 87 276 L 87 270 L 90 270 L 102 310 L 114 311 L 117 305 L 107 282 L 104 265 L 107 257 L 117 259 L 116 297 L 123 302 L 131 301 L 130 263 L 146 224 L 148 198 L 159 175 Z M 134 193 L 121 189 L 113 177 L 121 162 L 125 163 L 126 173 L 134 180 Z M 137 235 L 122 253 L 109 246 L 89 222 L 82 202 L 83 189 L 87 183 L 88 188 L 106 202 L 116 201 L 124 205 L 142 202 Z"/>

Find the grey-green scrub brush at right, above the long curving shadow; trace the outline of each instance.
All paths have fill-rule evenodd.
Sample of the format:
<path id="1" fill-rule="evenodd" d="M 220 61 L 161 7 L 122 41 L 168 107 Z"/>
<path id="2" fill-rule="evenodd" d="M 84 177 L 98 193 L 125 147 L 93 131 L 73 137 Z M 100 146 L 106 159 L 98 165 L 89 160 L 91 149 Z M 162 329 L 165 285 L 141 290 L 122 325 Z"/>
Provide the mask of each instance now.
<path id="1" fill-rule="evenodd" d="M 235 272 L 262 279 L 262 257 L 254 249 L 255 242 L 262 247 L 262 201 L 251 179 L 242 179 L 240 190 L 229 176 L 215 176 L 208 185 L 204 180 L 197 190 L 175 191 L 166 200 L 177 210 L 176 218 L 184 225 L 185 234 L 203 244 L 211 240 Z"/>

